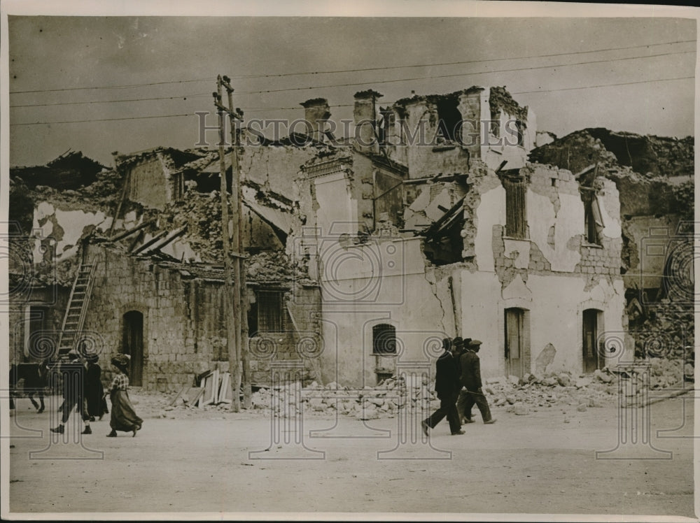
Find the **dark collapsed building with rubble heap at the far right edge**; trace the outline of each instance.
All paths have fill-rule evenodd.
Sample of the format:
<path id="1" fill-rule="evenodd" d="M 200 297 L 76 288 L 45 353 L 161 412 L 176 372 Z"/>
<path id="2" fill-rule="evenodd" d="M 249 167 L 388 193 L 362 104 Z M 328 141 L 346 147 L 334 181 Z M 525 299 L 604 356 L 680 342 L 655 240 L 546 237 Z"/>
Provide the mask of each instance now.
<path id="1" fill-rule="evenodd" d="M 629 331 L 638 356 L 693 357 L 694 138 L 582 129 L 530 154 L 533 162 L 594 173 L 620 194 Z M 692 368 L 686 374 L 692 375 Z"/>

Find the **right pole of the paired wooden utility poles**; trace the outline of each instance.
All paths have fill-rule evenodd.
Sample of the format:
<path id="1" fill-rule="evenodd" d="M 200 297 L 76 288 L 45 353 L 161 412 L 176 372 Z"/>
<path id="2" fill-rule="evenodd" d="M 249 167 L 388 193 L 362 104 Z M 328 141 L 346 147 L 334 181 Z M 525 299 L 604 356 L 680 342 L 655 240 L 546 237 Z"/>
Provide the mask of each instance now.
<path id="1" fill-rule="evenodd" d="M 223 77 L 223 86 L 228 93 L 228 109 L 231 120 L 231 192 L 235 196 L 233 209 L 235 218 L 233 220 L 233 239 L 232 243 L 237 252 L 244 253 L 243 245 L 243 208 L 242 199 L 243 192 L 241 191 L 241 173 L 238 161 L 238 132 L 236 129 L 237 119 L 242 120 L 242 113 L 233 108 L 233 87 L 230 85 L 228 76 Z M 235 299 L 238 301 L 236 321 L 238 329 L 236 329 L 236 346 L 239 348 L 242 368 L 242 385 L 243 385 L 243 406 L 251 408 L 251 368 L 248 361 L 248 290 L 246 289 L 246 260 L 244 257 L 238 257 L 235 263 Z M 239 383 L 239 385 L 241 385 Z"/>

